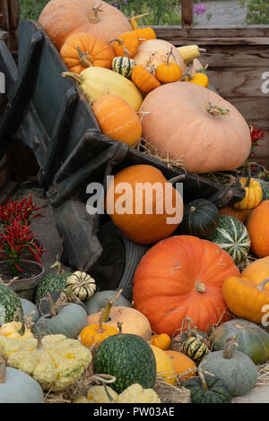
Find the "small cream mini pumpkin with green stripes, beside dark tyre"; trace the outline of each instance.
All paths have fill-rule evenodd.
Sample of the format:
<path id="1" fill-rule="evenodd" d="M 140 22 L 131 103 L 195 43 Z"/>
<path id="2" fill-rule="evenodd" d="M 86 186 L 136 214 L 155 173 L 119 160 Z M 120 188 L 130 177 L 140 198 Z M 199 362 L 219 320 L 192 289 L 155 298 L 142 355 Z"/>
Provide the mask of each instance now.
<path id="1" fill-rule="evenodd" d="M 96 290 L 95 280 L 91 275 L 82 271 L 75 271 L 66 279 L 68 292 L 77 296 L 80 301 L 91 298 Z"/>

